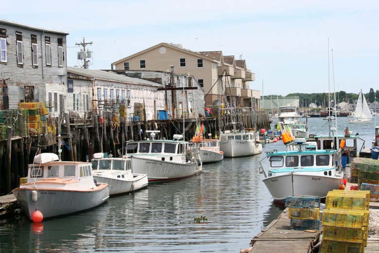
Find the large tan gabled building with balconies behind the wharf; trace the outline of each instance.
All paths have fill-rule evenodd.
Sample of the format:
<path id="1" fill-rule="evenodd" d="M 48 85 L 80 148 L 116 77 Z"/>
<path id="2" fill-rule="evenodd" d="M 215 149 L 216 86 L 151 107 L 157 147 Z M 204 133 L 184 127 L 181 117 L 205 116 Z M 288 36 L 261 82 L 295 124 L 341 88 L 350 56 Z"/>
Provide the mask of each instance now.
<path id="1" fill-rule="evenodd" d="M 260 92 L 250 89 L 255 73 L 247 69 L 245 60 L 224 56 L 222 51 L 194 52 L 178 44 L 159 43 L 112 63 L 111 68 L 170 71 L 171 66 L 175 73 L 194 76 L 204 87 L 206 106 L 227 96 L 233 106 L 258 107 Z"/>

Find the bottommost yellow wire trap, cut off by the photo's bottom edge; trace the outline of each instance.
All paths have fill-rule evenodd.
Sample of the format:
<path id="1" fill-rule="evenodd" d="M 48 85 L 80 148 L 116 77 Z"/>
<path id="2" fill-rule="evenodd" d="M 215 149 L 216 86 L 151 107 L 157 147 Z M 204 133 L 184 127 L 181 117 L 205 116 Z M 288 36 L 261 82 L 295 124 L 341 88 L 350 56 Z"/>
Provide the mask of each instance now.
<path id="1" fill-rule="evenodd" d="M 363 243 L 346 243 L 340 241 L 330 241 L 323 239 L 320 253 L 363 253 Z"/>

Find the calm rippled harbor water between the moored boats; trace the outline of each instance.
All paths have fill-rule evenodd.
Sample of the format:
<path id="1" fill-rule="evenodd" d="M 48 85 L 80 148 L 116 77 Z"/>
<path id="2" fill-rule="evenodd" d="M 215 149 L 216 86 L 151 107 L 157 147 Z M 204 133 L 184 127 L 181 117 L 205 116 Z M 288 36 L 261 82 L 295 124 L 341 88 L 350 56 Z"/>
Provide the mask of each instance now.
<path id="1" fill-rule="evenodd" d="M 347 120 L 339 120 L 340 133 Z M 310 133 L 327 133 L 326 124 L 309 118 Z M 370 147 L 374 126 L 349 129 Z M 272 143 L 264 151 L 283 147 Z M 258 173 L 263 157 L 205 165 L 200 175 L 150 185 L 93 210 L 46 220 L 43 227 L 25 219 L 0 225 L 0 252 L 239 252 L 281 212 Z M 193 221 L 201 216 L 208 220 Z"/>

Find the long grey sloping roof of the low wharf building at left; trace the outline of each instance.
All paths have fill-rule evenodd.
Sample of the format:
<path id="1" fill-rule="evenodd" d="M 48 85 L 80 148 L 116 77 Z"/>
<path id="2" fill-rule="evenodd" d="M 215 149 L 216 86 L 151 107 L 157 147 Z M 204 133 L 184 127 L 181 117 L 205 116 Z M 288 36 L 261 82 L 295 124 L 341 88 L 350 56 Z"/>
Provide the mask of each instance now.
<path id="1" fill-rule="evenodd" d="M 103 79 L 109 81 L 117 81 L 125 84 L 140 84 L 140 85 L 149 85 L 161 87 L 161 84 L 150 82 L 147 80 L 133 78 L 129 76 L 125 76 L 122 74 L 116 74 L 109 71 L 104 70 L 95 70 L 95 69 L 84 69 L 79 67 L 67 67 L 67 71 L 77 75 L 83 75 L 86 77 L 94 78 L 94 79 Z"/>

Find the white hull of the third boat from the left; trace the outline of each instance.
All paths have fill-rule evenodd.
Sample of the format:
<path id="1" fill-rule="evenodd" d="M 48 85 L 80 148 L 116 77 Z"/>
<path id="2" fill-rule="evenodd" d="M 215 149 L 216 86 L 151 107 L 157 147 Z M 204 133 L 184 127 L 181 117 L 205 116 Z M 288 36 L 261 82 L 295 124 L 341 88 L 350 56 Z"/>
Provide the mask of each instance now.
<path id="1" fill-rule="evenodd" d="M 159 182 L 186 178 L 200 173 L 202 163 L 171 163 L 149 159 L 145 157 L 132 157 L 133 172 L 147 174 L 149 182 Z"/>

